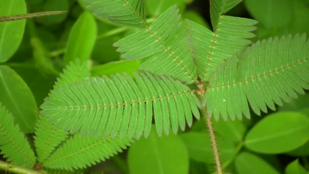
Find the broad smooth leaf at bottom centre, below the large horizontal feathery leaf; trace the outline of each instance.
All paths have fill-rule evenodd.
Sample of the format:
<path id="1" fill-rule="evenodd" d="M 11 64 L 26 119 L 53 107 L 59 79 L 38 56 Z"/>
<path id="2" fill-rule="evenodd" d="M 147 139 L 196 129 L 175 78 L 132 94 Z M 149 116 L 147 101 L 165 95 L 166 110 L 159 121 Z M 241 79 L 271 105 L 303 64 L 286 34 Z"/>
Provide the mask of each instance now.
<path id="1" fill-rule="evenodd" d="M 189 155 L 181 139 L 173 134 L 158 137 L 154 126 L 148 138 L 141 138 L 129 149 L 130 173 L 188 173 Z"/>

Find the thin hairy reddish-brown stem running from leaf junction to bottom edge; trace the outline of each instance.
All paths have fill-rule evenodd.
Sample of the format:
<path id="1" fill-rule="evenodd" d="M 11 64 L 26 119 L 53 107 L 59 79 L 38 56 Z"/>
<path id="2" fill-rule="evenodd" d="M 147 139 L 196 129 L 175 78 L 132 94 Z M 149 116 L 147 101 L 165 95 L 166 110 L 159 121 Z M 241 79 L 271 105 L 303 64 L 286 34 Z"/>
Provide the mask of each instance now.
<path id="1" fill-rule="evenodd" d="M 218 149 L 217 149 L 217 143 L 215 142 L 215 137 L 214 137 L 210 117 L 207 114 L 206 109 L 205 109 L 205 117 L 206 117 L 206 121 L 207 121 L 208 131 L 209 131 L 209 134 L 210 134 L 210 137 L 211 137 L 212 149 L 213 149 L 215 164 L 217 165 L 217 171 L 218 171 L 218 174 L 222 174 L 223 172 L 222 172 L 222 168 L 221 168 L 221 164 L 220 164 L 219 153 L 218 153 Z"/>

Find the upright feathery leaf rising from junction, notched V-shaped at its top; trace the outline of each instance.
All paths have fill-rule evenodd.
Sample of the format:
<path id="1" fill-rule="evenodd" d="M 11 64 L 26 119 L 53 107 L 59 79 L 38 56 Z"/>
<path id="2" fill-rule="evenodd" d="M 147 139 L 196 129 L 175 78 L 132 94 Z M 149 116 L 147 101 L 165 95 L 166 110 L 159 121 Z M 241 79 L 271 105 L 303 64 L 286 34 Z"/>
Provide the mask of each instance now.
<path id="1" fill-rule="evenodd" d="M 246 38 L 255 35 L 253 26 L 257 21 L 232 16 L 221 16 L 215 32 L 188 20 L 192 54 L 196 61 L 199 77 L 208 81 L 221 63 L 233 54 L 242 54 L 252 42 Z"/>

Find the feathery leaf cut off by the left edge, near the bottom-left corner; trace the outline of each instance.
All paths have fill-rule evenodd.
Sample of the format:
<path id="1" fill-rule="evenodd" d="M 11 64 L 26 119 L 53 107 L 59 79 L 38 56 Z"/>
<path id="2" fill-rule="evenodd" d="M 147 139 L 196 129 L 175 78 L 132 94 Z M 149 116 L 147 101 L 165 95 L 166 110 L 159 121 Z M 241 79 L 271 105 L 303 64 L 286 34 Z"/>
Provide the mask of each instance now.
<path id="1" fill-rule="evenodd" d="M 14 117 L 0 103 L 0 150 L 4 158 L 13 164 L 32 168 L 36 162 L 35 154 L 25 135 L 18 125 L 14 125 Z"/>

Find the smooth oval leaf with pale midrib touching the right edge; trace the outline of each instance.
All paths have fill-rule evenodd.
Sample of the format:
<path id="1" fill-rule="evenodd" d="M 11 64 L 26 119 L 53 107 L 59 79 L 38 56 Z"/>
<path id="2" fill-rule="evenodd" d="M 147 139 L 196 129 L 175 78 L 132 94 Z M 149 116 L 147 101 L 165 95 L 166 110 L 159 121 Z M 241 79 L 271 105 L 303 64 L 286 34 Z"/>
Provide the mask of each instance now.
<path id="1" fill-rule="evenodd" d="M 245 137 L 245 147 L 259 153 L 279 154 L 309 140 L 309 118 L 298 112 L 278 112 L 257 123 Z"/>

